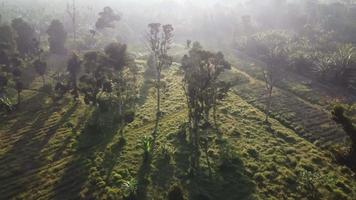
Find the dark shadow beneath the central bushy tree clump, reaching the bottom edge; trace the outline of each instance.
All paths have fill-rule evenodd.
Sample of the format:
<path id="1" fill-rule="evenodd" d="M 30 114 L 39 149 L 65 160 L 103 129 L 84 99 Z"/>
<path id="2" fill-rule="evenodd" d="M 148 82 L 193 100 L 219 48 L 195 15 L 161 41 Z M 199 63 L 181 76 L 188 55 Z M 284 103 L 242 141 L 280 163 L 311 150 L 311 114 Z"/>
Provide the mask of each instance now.
<path id="1" fill-rule="evenodd" d="M 211 159 L 213 174 L 209 175 L 206 162 L 201 157 L 200 171 L 194 175 L 189 173 L 190 155 L 192 146 L 187 141 L 187 129 L 182 126 L 174 145 L 176 147 L 176 177 L 183 183 L 183 187 L 188 192 L 189 199 L 192 200 L 237 200 L 251 199 L 255 192 L 255 183 L 247 176 L 247 171 L 242 160 L 235 154 L 225 155 L 226 146 L 218 145 L 220 155 Z"/>

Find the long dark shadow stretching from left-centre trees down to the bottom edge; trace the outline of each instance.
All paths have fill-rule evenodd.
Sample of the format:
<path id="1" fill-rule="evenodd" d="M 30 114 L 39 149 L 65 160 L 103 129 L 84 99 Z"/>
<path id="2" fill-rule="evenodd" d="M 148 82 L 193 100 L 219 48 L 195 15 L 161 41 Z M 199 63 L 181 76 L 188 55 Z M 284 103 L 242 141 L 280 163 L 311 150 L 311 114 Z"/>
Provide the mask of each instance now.
<path id="1" fill-rule="evenodd" d="M 106 113 L 110 114 L 110 113 Z M 111 172 L 125 145 L 119 141 L 107 150 L 108 144 L 120 129 L 120 124 L 111 116 L 102 127 L 98 123 L 101 112 L 96 109 L 86 121 L 85 127 L 77 136 L 77 145 L 73 159 L 66 164 L 64 174 L 54 188 L 54 199 L 94 199 L 102 193 L 102 186 L 89 177 L 96 176 L 91 169 L 95 168 L 104 174 L 97 174 L 105 184 L 109 181 Z M 98 163 L 97 154 L 103 154 Z"/>

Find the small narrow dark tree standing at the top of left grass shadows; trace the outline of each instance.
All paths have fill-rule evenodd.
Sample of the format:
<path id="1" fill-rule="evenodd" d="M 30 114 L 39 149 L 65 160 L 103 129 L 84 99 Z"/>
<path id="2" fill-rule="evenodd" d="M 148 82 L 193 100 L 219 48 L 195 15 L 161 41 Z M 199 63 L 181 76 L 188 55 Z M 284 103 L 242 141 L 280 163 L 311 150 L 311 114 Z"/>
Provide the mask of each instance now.
<path id="1" fill-rule="evenodd" d="M 74 99 L 79 97 L 77 79 L 81 69 L 79 56 L 73 53 L 72 57 L 68 60 L 67 71 L 69 73 L 69 86 L 72 89 Z"/>

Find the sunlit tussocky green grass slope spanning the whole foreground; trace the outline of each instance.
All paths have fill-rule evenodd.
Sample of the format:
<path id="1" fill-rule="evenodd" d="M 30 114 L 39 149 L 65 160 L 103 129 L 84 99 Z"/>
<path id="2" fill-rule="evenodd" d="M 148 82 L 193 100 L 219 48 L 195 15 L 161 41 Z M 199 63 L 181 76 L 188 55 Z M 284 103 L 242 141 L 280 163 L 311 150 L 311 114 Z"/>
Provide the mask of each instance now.
<path id="1" fill-rule="evenodd" d="M 142 62 L 140 62 L 142 63 Z M 165 199 L 169 187 L 180 182 L 185 195 L 197 199 L 301 199 L 298 174 L 304 169 L 320 174 L 323 199 L 352 199 L 356 196 L 353 174 L 332 163 L 316 146 L 300 138 L 276 120 L 263 123 L 264 115 L 234 93 L 219 109 L 221 135 L 209 151 L 219 160 L 219 141 L 226 139 L 238 155 L 234 170 L 214 166 L 207 174 L 189 178 L 189 146 L 181 138 L 180 125 L 186 121 L 185 98 L 176 67 L 165 71 L 167 89 L 163 99 L 158 143 L 171 149 L 172 159 L 157 151 L 151 165 L 143 162 L 138 148 L 143 135 L 153 127 L 154 90 L 142 81 L 142 105 L 136 119 L 125 127 L 126 144 L 118 127 L 104 135 L 88 133 L 85 126 L 94 110 L 65 99 L 53 105 L 43 95 L 34 95 L 18 114 L 0 123 L 0 199 L 120 199 L 122 180 L 137 178 L 141 199 Z M 142 76 L 142 80 L 144 80 Z M 159 145 L 160 146 L 160 145 Z M 204 175 L 205 174 L 205 175 Z"/>

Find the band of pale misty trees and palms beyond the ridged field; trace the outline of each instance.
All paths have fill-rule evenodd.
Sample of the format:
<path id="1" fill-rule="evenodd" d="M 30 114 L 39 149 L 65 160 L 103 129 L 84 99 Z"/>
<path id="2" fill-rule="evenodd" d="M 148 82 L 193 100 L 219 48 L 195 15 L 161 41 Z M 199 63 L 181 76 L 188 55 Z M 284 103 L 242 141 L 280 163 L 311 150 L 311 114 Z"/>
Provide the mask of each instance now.
<path id="1" fill-rule="evenodd" d="M 307 35 L 267 31 L 246 38 L 239 49 L 265 63 L 278 65 L 278 70 L 292 70 L 329 85 L 356 90 L 355 47 L 330 41 L 328 33 L 320 33 L 313 41 Z"/>

